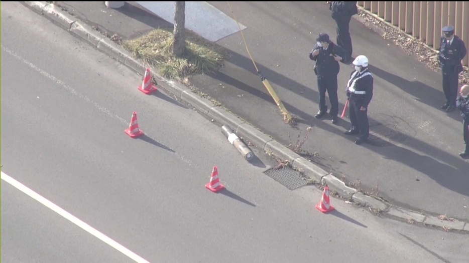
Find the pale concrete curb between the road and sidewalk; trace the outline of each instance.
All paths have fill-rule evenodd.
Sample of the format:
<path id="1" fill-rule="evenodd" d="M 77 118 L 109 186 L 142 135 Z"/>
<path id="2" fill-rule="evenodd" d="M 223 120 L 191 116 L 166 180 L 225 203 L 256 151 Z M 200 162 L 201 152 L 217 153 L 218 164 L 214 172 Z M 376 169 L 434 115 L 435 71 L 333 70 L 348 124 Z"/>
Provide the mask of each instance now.
<path id="1" fill-rule="evenodd" d="M 68 13 L 62 11 L 56 5 L 47 2 L 25 3 L 29 8 L 58 23 L 70 33 L 75 34 L 96 47 L 98 50 L 120 61 L 138 74 L 143 75 L 145 69 L 148 67 L 134 59 L 129 52 L 124 50 L 124 48 L 107 39 L 99 32 L 93 30 L 82 21 L 79 21 Z M 287 161 L 293 169 L 304 173 L 314 181 L 327 184 L 330 190 L 336 192 L 342 198 L 353 200 L 360 205 L 370 207 L 380 213 L 386 213 L 391 216 L 404 219 L 408 222 L 421 222 L 426 225 L 443 227 L 446 230 L 453 229 L 469 231 L 469 222 L 453 219 L 441 220 L 438 217 L 426 216 L 414 211 L 392 207 L 390 204 L 383 202 L 382 200 L 367 196 L 357 189 L 348 187 L 332 173 L 324 171 L 319 166 L 275 141 L 272 137 L 259 131 L 246 121 L 214 105 L 209 100 L 201 98 L 197 94 L 193 93 L 190 88 L 171 80 L 165 80 L 153 69 L 151 70 L 151 73 L 155 79 L 160 81 L 160 83 L 158 83 L 159 88 L 173 93 L 177 99 L 184 100 L 196 110 L 208 115 L 215 121 L 229 125 L 242 140 L 248 140 L 260 149 L 263 149 L 265 152 L 271 153 L 283 161 Z"/>

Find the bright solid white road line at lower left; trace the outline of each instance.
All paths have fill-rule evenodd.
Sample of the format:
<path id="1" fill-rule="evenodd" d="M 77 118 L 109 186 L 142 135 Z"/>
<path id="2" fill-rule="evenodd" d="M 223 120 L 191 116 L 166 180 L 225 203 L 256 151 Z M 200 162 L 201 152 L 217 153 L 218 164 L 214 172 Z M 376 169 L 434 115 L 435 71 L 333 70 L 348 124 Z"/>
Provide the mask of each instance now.
<path id="1" fill-rule="evenodd" d="M 14 186 L 15 188 L 17 188 L 18 190 L 20 190 L 20 191 L 24 192 L 25 194 L 29 195 L 30 197 L 32 197 L 36 201 L 42 203 L 43 205 L 50 208 L 52 211 L 58 213 L 59 215 L 63 216 L 65 219 L 69 220 L 70 222 L 72 222 L 72 223 L 76 224 L 77 226 L 81 227 L 86 232 L 88 232 L 88 233 L 94 235 L 95 237 L 99 238 L 101 241 L 103 241 L 104 243 L 106 243 L 106 244 L 110 245 L 111 247 L 115 248 L 119 252 L 127 255 L 128 257 L 132 258 L 136 262 L 149 263 L 149 261 L 145 260 L 141 256 L 137 255 L 136 253 L 132 252 L 128 248 L 126 248 L 123 245 L 119 244 L 118 242 L 112 240 L 111 238 L 109 238 L 105 234 L 103 234 L 103 233 L 99 232 L 98 230 L 94 229 L 93 227 L 91 227 L 87 223 L 81 221 L 80 219 L 78 219 L 74 215 L 72 215 L 69 212 L 65 211 L 64 209 L 60 208 L 58 205 L 56 205 L 53 202 L 51 202 L 51 201 L 47 200 L 46 198 L 42 197 L 41 195 L 39 195 L 35 191 L 33 191 L 30 188 L 26 187 L 24 184 L 22 184 L 19 181 L 13 179 L 12 177 L 7 175 L 6 173 L 0 172 L 0 175 L 1 175 L 2 180 L 6 181 L 7 183 L 9 183 L 12 186 Z"/>

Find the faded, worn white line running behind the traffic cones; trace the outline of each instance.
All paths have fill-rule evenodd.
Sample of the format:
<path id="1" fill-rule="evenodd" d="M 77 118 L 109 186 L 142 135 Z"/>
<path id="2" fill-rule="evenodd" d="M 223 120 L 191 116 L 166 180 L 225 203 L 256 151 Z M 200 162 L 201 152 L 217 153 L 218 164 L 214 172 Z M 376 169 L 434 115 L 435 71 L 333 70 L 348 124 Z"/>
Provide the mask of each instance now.
<path id="1" fill-rule="evenodd" d="M 33 63 L 29 62 L 28 60 L 26 60 L 25 58 L 21 57 L 20 55 L 18 55 L 16 52 L 14 52 L 13 50 L 9 49 L 9 48 L 6 48 L 2 45 L 2 50 L 7 52 L 8 54 L 12 55 L 13 57 L 15 57 L 17 60 L 23 62 L 24 64 L 28 65 L 30 68 L 32 68 L 33 70 L 39 72 L 41 75 L 43 75 L 44 77 L 52 80 L 53 82 L 57 83 L 57 85 L 60 85 L 62 87 L 64 87 L 67 91 L 69 91 L 71 94 L 77 96 L 78 98 L 88 102 L 88 103 L 91 103 L 94 105 L 94 107 L 96 107 L 97 109 L 99 109 L 100 111 L 106 113 L 107 115 L 109 115 L 111 118 L 113 119 L 117 119 L 119 121 L 121 121 L 122 123 L 126 124 L 127 126 L 129 126 L 130 122 L 129 121 L 126 121 L 125 119 L 121 118 L 120 116 L 116 115 L 116 114 L 113 114 L 111 113 L 108 109 L 100 106 L 99 104 L 97 104 L 95 101 L 91 100 L 90 98 L 86 97 L 85 95 L 79 93 L 78 91 L 76 91 L 75 89 L 73 89 L 72 87 L 66 85 L 63 81 L 57 79 L 56 77 L 54 77 L 53 75 L 47 73 L 46 71 L 40 69 L 38 66 L 34 65 Z M 127 128 L 127 127 L 126 127 Z M 159 142 L 158 140 L 155 140 L 154 138 L 150 137 L 147 135 L 147 137 L 149 137 L 150 139 L 153 139 L 154 141 L 157 141 Z M 180 156 L 178 153 L 176 152 L 172 152 L 172 154 L 176 155 L 180 160 L 182 160 L 183 162 L 189 164 L 189 165 L 192 165 L 192 161 L 185 158 L 184 156 Z"/>

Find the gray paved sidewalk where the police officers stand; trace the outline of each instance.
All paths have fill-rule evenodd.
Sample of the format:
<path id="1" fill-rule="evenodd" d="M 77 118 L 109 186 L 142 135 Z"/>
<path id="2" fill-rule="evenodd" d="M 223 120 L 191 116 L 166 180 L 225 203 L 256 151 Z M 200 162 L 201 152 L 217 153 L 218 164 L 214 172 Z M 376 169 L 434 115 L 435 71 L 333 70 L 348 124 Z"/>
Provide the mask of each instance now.
<path id="1" fill-rule="evenodd" d="M 102 2 L 58 2 L 108 36 L 116 33 L 128 39 L 156 27 L 172 27 L 127 3 L 125 8 L 110 10 Z M 209 3 L 230 16 L 226 3 Z M 343 135 L 349 127 L 348 118 L 339 125 L 314 118 L 317 87 L 307 54 L 320 31 L 335 38 L 327 7 L 320 2 L 231 5 L 247 27 L 244 34 L 261 72 L 300 122 L 297 128 L 283 123 L 254 72 L 239 33 L 217 42 L 232 55 L 225 68 L 213 76 L 194 77 L 192 84 L 284 145 L 295 144 L 298 135 L 311 126 L 309 139 L 302 146 L 316 153 L 310 159 L 336 177 L 360 184 L 364 191 L 374 191 L 406 208 L 469 219 L 469 162 L 457 156 L 463 149 L 460 116 L 439 110 L 443 94 L 438 73 L 353 20 L 354 56 L 367 55 L 375 77 L 375 97 L 370 105 L 372 143 L 357 146 L 353 138 Z M 351 70 L 341 65 L 339 87 L 345 85 Z M 345 94 L 340 88 L 338 95 L 342 109 Z"/>

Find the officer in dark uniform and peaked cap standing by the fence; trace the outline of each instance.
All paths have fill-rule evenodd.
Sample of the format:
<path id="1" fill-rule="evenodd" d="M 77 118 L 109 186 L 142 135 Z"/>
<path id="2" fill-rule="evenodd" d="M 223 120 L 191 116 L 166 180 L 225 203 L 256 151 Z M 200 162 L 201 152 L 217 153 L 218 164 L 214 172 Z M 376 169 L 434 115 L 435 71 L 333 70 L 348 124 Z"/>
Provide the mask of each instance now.
<path id="1" fill-rule="evenodd" d="M 454 27 L 444 27 L 443 36 L 440 39 L 438 61 L 443 73 L 443 93 L 446 98 L 441 109 L 447 112 L 453 111 L 456 107 L 458 75 L 462 71 L 461 60 L 466 53 L 464 42 L 454 35 Z"/>

